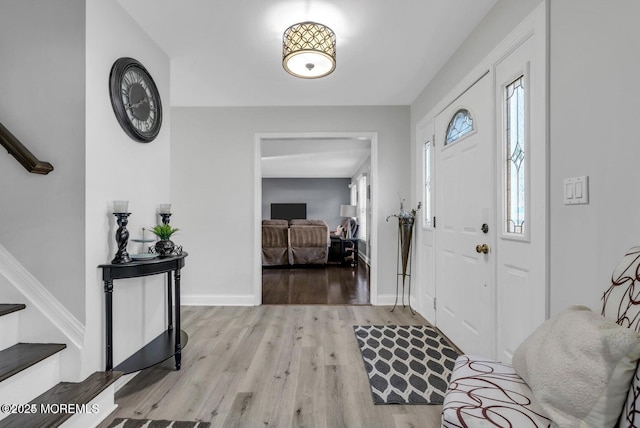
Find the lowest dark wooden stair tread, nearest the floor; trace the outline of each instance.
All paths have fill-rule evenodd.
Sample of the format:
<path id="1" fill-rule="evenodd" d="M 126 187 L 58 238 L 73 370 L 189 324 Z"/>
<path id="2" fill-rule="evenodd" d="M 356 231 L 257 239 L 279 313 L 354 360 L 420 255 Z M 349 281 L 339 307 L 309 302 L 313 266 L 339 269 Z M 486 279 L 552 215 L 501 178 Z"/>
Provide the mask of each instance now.
<path id="1" fill-rule="evenodd" d="M 122 372 L 95 372 L 82 382 L 60 382 L 50 390 L 36 397 L 29 404 L 35 405 L 37 410 L 33 414 L 12 414 L 0 420 L 1 428 L 53 428 L 60 426 L 64 421 L 76 413 L 94 412 L 90 407 L 83 409 L 83 404 L 88 404 L 102 391 L 115 382 Z M 60 404 L 70 405 L 70 413 L 65 413 Z M 47 406 L 51 405 L 51 406 Z M 78 406 L 74 406 L 78 405 Z M 48 410 L 48 411 L 47 411 Z M 99 409 L 105 410 L 105 409 Z"/>

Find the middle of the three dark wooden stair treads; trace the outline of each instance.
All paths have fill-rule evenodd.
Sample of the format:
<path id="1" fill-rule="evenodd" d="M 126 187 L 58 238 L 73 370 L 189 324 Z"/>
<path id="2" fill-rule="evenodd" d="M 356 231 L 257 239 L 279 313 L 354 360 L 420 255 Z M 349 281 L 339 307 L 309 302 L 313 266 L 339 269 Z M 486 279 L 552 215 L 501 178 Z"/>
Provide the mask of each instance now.
<path id="1" fill-rule="evenodd" d="M 17 343 L 0 351 L 0 382 L 62 351 L 59 343 Z"/>

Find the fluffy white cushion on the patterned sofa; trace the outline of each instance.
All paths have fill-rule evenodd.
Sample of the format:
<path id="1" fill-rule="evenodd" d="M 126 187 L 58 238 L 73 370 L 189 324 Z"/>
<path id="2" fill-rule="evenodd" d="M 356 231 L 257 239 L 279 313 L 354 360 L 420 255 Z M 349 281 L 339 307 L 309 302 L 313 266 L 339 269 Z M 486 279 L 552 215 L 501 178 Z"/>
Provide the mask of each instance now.
<path id="1" fill-rule="evenodd" d="M 572 306 L 518 347 L 513 366 L 558 426 L 613 427 L 638 358 L 638 333 Z"/>

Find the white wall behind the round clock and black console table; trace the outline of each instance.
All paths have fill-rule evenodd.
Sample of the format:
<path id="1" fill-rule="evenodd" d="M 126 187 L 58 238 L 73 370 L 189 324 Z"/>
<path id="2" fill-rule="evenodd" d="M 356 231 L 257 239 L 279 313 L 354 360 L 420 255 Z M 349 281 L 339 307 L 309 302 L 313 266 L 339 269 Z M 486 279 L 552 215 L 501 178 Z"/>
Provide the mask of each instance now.
<path id="1" fill-rule="evenodd" d="M 104 296 L 99 264 L 115 254 L 111 201 L 129 201 L 130 238 L 157 224 L 157 204 L 170 201 L 169 70 L 167 55 L 114 1 L 87 1 L 86 14 L 86 306 L 83 371 L 104 369 Z M 151 143 L 129 138 L 109 100 L 109 72 L 122 56 L 139 60 L 156 82 L 163 125 Z M 129 252 L 137 246 L 130 241 Z M 165 325 L 164 276 L 114 282 L 114 363 L 159 334 Z"/>

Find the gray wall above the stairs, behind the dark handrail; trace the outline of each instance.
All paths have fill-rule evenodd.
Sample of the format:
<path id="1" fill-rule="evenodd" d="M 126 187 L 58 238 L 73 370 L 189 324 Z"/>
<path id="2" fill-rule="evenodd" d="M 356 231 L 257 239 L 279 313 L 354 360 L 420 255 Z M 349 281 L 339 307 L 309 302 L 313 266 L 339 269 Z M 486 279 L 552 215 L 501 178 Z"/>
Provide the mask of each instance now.
<path id="1" fill-rule="evenodd" d="M 0 123 L 48 175 L 0 155 L 0 243 L 85 321 L 85 1 L 0 2 Z M 0 296 L 2 293 L 0 292 Z"/>

